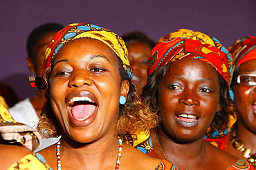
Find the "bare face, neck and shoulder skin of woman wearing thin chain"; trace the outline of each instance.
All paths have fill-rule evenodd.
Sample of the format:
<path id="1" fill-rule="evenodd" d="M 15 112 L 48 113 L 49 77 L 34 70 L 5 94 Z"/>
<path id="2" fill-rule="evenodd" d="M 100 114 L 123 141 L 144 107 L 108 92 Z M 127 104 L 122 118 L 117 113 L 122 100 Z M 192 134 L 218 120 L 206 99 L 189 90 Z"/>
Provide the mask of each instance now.
<path id="1" fill-rule="evenodd" d="M 197 158 L 190 169 L 227 169 L 238 160 L 203 140 L 221 109 L 218 73 L 212 66 L 194 59 L 174 61 L 159 83 L 157 98 L 163 121 L 152 131 L 154 152 L 149 155 L 164 158 L 159 139 L 165 156 L 180 170 Z"/>

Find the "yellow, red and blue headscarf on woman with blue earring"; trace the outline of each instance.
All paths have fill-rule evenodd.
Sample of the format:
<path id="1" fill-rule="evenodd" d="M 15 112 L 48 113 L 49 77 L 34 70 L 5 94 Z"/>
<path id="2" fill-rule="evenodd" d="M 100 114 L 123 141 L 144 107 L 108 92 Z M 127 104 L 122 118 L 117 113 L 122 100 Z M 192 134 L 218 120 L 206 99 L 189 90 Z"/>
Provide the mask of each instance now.
<path id="1" fill-rule="evenodd" d="M 49 43 L 46 48 L 43 74 L 46 68 L 51 67 L 55 55 L 64 44 L 80 38 L 97 39 L 108 45 L 121 59 L 124 70 L 127 72 L 128 76 L 132 78 L 131 67 L 128 60 L 128 51 L 122 38 L 106 28 L 90 23 L 72 23 L 55 34 L 51 43 Z M 35 79 L 33 78 L 30 79 L 30 84 L 32 86 L 37 86 L 35 85 Z"/>

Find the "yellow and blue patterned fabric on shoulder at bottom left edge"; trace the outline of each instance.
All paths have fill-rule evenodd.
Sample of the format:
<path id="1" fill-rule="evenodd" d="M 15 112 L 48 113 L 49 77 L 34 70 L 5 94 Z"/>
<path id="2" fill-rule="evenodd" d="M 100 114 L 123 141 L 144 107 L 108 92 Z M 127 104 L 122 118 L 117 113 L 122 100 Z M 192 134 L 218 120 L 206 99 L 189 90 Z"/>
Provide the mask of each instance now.
<path id="1" fill-rule="evenodd" d="M 39 153 L 31 153 L 29 155 L 24 156 L 19 161 L 15 162 L 8 168 L 8 170 L 52 170 L 51 167 L 46 163 L 43 156 Z"/>

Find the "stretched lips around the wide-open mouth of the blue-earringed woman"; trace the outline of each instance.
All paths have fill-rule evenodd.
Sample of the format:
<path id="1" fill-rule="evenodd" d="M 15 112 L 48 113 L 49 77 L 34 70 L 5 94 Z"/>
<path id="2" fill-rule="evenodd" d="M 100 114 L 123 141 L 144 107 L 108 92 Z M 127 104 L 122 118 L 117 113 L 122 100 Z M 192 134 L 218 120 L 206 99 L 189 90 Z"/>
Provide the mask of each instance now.
<path id="1" fill-rule="evenodd" d="M 93 100 L 93 103 L 97 104 L 95 111 L 93 111 L 93 114 L 91 114 L 88 118 L 85 118 L 84 120 L 77 120 L 73 114 L 71 114 L 70 111 L 68 111 L 68 105 L 71 101 L 72 98 L 74 97 L 86 97 L 86 98 L 91 98 L 91 100 Z M 71 120 L 71 123 L 73 125 L 75 125 L 76 127 L 86 127 L 91 125 L 91 123 L 93 123 L 93 121 L 95 120 L 97 114 L 98 114 L 98 100 L 95 97 L 94 94 L 92 94 L 91 92 L 88 91 L 78 91 L 78 92 L 73 92 L 72 94 L 68 95 L 68 97 L 66 98 L 66 109 L 68 112 L 68 118 Z"/>

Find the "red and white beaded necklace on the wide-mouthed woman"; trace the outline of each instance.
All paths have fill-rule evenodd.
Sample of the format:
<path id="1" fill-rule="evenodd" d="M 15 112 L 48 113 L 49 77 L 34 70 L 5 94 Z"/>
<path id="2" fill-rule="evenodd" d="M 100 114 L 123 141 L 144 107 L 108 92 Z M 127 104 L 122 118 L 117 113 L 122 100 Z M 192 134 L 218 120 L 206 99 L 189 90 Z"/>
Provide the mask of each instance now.
<path id="1" fill-rule="evenodd" d="M 116 167 L 115 170 L 119 169 L 120 166 L 120 158 L 122 155 L 122 138 L 120 138 L 118 136 L 118 157 L 116 158 Z M 60 140 L 59 142 L 57 142 L 57 146 L 56 146 L 56 156 L 57 156 L 57 170 L 61 170 L 62 169 L 62 164 L 61 164 L 61 158 L 60 158 Z"/>

